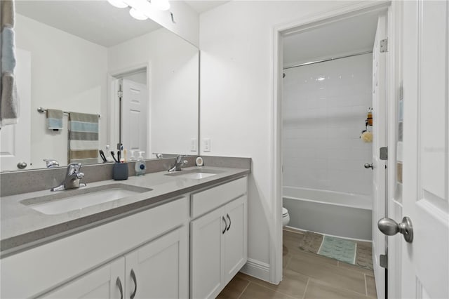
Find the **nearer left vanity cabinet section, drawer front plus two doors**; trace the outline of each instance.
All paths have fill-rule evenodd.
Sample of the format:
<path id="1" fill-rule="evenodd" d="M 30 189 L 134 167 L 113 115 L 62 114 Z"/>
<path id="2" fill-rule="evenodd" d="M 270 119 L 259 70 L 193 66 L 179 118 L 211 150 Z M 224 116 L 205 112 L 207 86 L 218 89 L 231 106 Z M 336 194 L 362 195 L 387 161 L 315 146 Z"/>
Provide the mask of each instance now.
<path id="1" fill-rule="evenodd" d="M 188 211 L 182 197 L 1 258 L 0 297 L 122 298 L 119 277 L 123 298 L 187 298 Z"/>

